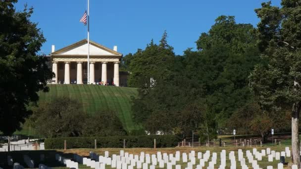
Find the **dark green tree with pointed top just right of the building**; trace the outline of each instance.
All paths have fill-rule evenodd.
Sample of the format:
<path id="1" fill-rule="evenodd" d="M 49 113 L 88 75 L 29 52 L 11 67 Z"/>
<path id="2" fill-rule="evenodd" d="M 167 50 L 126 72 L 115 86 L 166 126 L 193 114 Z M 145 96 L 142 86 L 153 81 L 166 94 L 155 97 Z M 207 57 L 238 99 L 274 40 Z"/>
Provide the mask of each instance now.
<path id="1" fill-rule="evenodd" d="M 152 40 L 145 50 L 138 49 L 132 56 L 128 84 L 131 87 L 150 89 L 151 82 L 165 79 L 172 73 L 175 54 L 167 44 L 167 33 L 164 32 L 159 45 Z"/>

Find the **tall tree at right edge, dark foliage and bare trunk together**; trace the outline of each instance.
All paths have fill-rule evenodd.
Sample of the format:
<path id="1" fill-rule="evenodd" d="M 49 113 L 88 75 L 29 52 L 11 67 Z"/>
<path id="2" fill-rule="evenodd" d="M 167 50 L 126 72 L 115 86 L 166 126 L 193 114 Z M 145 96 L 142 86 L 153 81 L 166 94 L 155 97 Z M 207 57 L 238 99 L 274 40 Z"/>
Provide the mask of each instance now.
<path id="1" fill-rule="evenodd" d="M 251 91 L 265 110 L 292 106 L 292 162 L 300 168 L 299 114 L 301 108 L 301 4 L 282 0 L 282 8 L 262 3 L 255 9 L 259 45 L 267 64 L 258 64 L 250 76 Z"/>

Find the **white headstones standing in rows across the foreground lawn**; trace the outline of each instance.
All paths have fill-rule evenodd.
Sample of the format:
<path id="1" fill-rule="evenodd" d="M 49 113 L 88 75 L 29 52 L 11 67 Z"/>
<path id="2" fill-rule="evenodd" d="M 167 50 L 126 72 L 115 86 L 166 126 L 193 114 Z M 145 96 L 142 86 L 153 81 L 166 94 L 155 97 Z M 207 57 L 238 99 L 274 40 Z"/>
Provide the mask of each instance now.
<path id="1" fill-rule="evenodd" d="M 288 152 L 289 151 L 289 148 L 287 147 L 286 148 L 286 152 Z M 273 152 L 273 151 L 272 151 Z M 176 158 L 177 159 L 179 159 L 179 154 L 180 152 L 177 152 L 176 153 Z M 240 149 L 239 150 L 239 154 L 241 154 L 242 153 L 242 150 Z M 259 158 L 260 159 L 260 155 L 258 155 L 258 153 L 259 152 L 257 152 L 256 151 L 256 149 L 253 149 L 253 154 L 255 155 L 255 158 Z M 262 152 L 261 152 L 262 153 Z M 267 149 L 267 154 L 269 154 L 269 153 L 271 153 L 271 151 L 270 151 L 270 149 Z M 253 157 L 252 155 L 251 155 L 251 152 L 248 150 L 247 151 L 247 154 L 248 154 L 248 157 Z M 262 153 L 262 154 L 264 154 L 265 155 L 265 152 L 264 153 Z M 274 153 L 273 153 L 274 154 Z M 276 153 L 275 153 L 276 154 Z M 250 156 L 251 155 L 251 156 Z M 95 153 L 93 153 L 93 152 L 91 152 L 90 153 L 90 157 L 91 158 L 93 158 L 93 159 L 97 159 L 97 157 L 99 157 L 99 162 L 97 162 L 97 161 L 95 161 L 95 160 L 92 160 L 92 159 L 88 159 L 88 158 L 82 158 L 81 156 L 77 156 L 77 157 L 80 157 L 80 159 L 82 159 L 82 161 L 83 161 L 83 164 L 84 165 L 87 165 L 87 166 L 89 166 L 89 167 L 91 167 L 91 168 L 99 168 L 100 167 L 100 169 L 104 169 L 105 168 L 105 165 L 111 165 L 111 167 L 112 168 L 117 168 L 117 169 L 132 169 L 133 167 L 135 167 L 136 166 L 136 164 L 135 163 L 132 163 L 132 162 L 128 162 L 127 163 L 127 158 L 129 158 L 130 160 L 137 160 L 137 168 L 138 169 L 141 169 L 141 168 L 143 168 L 143 169 L 147 169 L 148 168 L 148 165 L 150 164 L 150 163 L 139 163 L 139 162 L 141 162 L 142 161 L 142 159 L 143 159 L 143 161 L 144 161 L 144 156 L 146 157 L 146 161 L 148 162 L 150 162 L 150 160 L 147 160 L 147 159 L 149 159 L 148 157 L 150 157 L 150 155 L 149 154 L 144 154 L 144 152 L 141 152 L 141 154 L 140 154 L 140 161 L 139 161 L 139 157 L 138 157 L 138 155 L 135 155 L 135 156 L 133 156 L 132 154 L 128 154 L 128 153 L 124 153 L 123 152 L 123 150 L 121 150 L 120 151 L 120 155 L 119 156 L 117 156 L 117 155 L 112 155 L 112 160 L 111 160 L 111 158 L 109 158 L 109 154 L 108 154 L 108 152 L 106 151 L 105 152 L 105 155 L 104 155 L 104 157 L 103 156 L 98 156 L 97 154 L 95 154 Z M 157 157 L 160 157 L 161 156 L 161 153 L 160 152 L 157 152 Z M 184 161 L 187 161 L 187 154 L 186 153 L 183 153 L 183 155 L 182 155 L 183 157 L 183 162 Z M 198 153 L 198 159 L 201 159 L 201 152 L 199 152 Z M 239 155 L 240 156 L 240 155 Z M 257 156 L 257 157 L 256 157 Z M 275 155 L 276 156 L 276 155 Z M 152 159 L 152 162 L 154 162 L 156 159 L 155 159 L 155 155 L 151 155 L 151 159 Z M 192 151 L 191 153 L 189 153 L 189 159 L 191 160 L 191 162 L 188 162 L 188 167 L 187 167 L 187 169 L 192 169 L 193 168 L 193 165 L 195 165 L 195 151 Z M 201 169 L 201 167 L 204 167 L 204 162 L 207 162 L 208 161 L 208 159 L 209 159 L 209 157 L 210 157 L 210 151 L 206 151 L 206 153 L 204 153 L 203 154 L 203 159 L 201 159 L 200 160 L 200 165 L 198 165 L 197 166 L 197 169 Z M 211 158 L 211 162 L 209 162 L 209 169 L 210 168 L 214 168 L 214 164 L 216 164 L 216 158 L 217 157 L 217 154 L 216 153 L 212 153 L 212 158 Z M 172 159 L 173 158 L 173 154 L 169 154 L 169 156 L 167 156 L 167 154 L 166 153 L 164 153 L 163 154 L 163 159 L 164 159 L 164 161 L 163 162 L 166 162 L 166 160 L 167 160 L 167 168 L 172 168 L 172 165 L 175 165 L 175 163 L 169 163 L 168 162 L 168 158 L 169 159 Z M 230 152 L 230 154 L 229 154 L 229 159 L 230 159 L 230 161 L 231 161 L 231 168 L 236 168 L 236 161 L 235 161 L 235 154 L 234 154 L 234 152 Z M 239 158 L 240 160 L 242 160 L 243 158 Z M 254 168 L 259 168 L 259 166 L 257 165 L 257 161 L 254 161 L 254 160 L 250 160 L 250 159 L 248 159 L 249 160 L 249 162 L 250 161 L 252 161 L 251 163 L 252 163 L 252 167 L 254 167 Z M 117 162 L 117 163 L 115 163 L 115 161 Z M 172 161 L 172 160 L 171 160 Z M 164 163 L 161 163 L 161 164 L 163 164 L 164 165 Z M 220 169 L 223 169 L 223 168 L 225 168 L 225 166 L 226 166 L 226 151 L 225 150 L 222 150 L 222 152 L 221 152 L 221 166 L 220 166 Z M 244 162 L 245 162 L 245 159 L 244 159 Z M 130 166 L 127 166 L 128 164 L 131 164 Z M 154 165 L 154 164 L 156 164 L 156 163 L 153 163 L 153 165 L 151 165 L 151 167 L 150 168 L 153 168 L 154 166 L 156 166 L 156 165 Z M 164 168 L 164 166 L 161 166 L 160 167 L 160 163 L 159 163 L 159 167 L 160 168 Z M 242 165 L 242 162 L 241 162 L 241 165 Z M 281 164 L 279 164 L 279 167 L 281 166 Z M 282 164 L 282 166 L 283 166 L 283 164 Z M 245 164 L 243 164 L 242 165 L 242 167 L 244 168 L 244 169 L 247 169 L 248 167 L 245 165 Z M 179 165 L 176 165 L 176 168 L 181 168 L 181 166 L 179 166 Z M 282 167 L 283 168 L 283 167 Z"/>

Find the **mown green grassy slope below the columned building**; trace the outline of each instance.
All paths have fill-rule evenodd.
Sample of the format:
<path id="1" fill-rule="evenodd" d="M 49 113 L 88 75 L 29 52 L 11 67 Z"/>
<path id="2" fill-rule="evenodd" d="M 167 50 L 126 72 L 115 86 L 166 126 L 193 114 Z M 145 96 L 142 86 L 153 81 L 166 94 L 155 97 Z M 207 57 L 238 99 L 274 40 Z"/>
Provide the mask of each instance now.
<path id="1" fill-rule="evenodd" d="M 95 114 L 104 110 L 115 110 L 126 130 L 140 129 L 132 120 L 131 96 L 137 96 L 137 88 L 78 85 L 78 84 L 50 84 L 49 92 L 40 92 L 40 104 L 54 101 L 57 96 L 66 96 L 77 99 L 84 112 Z M 59 100 L 55 100 L 59 101 Z M 24 128 L 16 134 L 33 134 L 31 129 Z"/>

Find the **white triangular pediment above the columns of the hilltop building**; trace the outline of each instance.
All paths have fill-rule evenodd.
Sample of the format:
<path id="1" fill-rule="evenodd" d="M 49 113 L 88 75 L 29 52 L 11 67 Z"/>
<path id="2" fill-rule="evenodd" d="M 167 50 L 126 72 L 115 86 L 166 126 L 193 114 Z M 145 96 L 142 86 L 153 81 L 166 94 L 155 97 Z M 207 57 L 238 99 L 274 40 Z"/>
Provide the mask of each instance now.
<path id="1" fill-rule="evenodd" d="M 51 53 L 51 55 L 60 56 L 87 56 L 88 53 L 88 41 L 82 40 L 64 48 L 58 49 Z M 121 53 L 105 47 L 99 43 L 90 41 L 90 56 L 122 56 Z"/>

